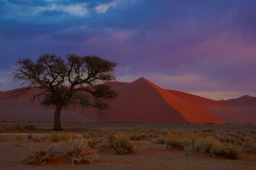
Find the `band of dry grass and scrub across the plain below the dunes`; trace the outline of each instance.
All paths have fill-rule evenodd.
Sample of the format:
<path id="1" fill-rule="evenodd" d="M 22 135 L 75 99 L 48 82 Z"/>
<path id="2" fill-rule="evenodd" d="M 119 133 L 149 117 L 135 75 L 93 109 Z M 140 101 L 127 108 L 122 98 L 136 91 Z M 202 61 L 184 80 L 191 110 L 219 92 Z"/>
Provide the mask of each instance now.
<path id="1" fill-rule="evenodd" d="M 2 133 L 11 132 L 9 134 L 13 135 L 0 135 L 0 144 L 15 146 L 17 153 L 18 150 L 26 148 L 26 154 L 20 156 L 17 163 L 36 166 L 54 164 L 61 159 L 71 165 L 97 165 L 108 160 L 108 157 L 118 161 L 122 158 L 119 156 L 153 156 L 154 152 L 180 154 L 187 157 L 186 159 L 198 156 L 198 159 L 209 157 L 212 160 L 218 158 L 234 162 L 247 159 L 245 154 L 247 157 L 256 156 L 254 126 L 147 127 L 143 124 L 131 124 L 119 128 L 117 124 L 110 128 L 108 123 L 94 126 L 67 128 L 66 131 L 55 132 L 44 126 L 36 128 L 33 124 L 13 127 L 3 125 Z M 26 130 L 24 127 L 29 128 Z"/>

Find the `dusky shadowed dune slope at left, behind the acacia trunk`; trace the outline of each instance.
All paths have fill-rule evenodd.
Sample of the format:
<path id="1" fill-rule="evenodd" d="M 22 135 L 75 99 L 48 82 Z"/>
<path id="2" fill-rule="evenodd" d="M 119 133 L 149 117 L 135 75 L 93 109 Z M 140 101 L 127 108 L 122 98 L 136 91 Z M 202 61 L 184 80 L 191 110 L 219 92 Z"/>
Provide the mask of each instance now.
<path id="1" fill-rule="evenodd" d="M 0 95 L 0 121 L 1 122 L 52 122 L 54 108 L 46 108 L 33 96 L 39 93 L 38 89 L 31 89 L 26 94 L 14 96 L 12 91 Z M 86 117 L 74 111 L 61 113 L 63 122 L 90 122 Z"/>

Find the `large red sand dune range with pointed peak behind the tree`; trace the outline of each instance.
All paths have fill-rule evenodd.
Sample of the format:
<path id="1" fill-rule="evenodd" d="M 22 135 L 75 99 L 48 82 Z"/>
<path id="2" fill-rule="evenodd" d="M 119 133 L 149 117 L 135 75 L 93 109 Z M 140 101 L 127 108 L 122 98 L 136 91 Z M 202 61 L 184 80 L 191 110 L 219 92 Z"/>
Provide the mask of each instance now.
<path id="1" fill-rule="evenodd" d="M 224 101 L 215 101 L 193 94 L 165 90 L 140 78 L 135 82 L 108 82 L 119 94 L 111 101 L 106 111 L 72 107 L 63 111 L 62 121 L 69 122 L 157 122 L 157 123 L 247 123 L 256 122 L 256 116 L 246 110 L 234 107 Z M 17 122 L 51 122 L 53 108 L 47 110 L 35 101 L 32 96 L 37 94 L 32 89 L 19 98 L 10 99 L 9 92 L 0 93 L 0 121 Z"/>

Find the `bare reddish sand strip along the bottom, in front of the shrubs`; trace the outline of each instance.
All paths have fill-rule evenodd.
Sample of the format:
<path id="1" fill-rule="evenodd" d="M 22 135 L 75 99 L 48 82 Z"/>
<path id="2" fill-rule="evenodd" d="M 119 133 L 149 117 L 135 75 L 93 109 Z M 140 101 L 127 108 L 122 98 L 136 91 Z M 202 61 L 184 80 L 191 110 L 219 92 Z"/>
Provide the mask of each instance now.
<path id="1" fill-rule="evenodd" d="M 112 153 L 100 154 L 101 160 L 96 164 L 74 165 L 69 162 L 56 162 L 54 165 L 26 165 L 22 159 L 28 156 L 31 148 L 37 144 L 0 145 L 0 169 L 251 169 L 256 167 L 256 156 L 244 156 L 238 160 L 227 160 L 208 156 L 186 156 L 179 150 L 144 149 L 134 154 L 119 156 Z"/>

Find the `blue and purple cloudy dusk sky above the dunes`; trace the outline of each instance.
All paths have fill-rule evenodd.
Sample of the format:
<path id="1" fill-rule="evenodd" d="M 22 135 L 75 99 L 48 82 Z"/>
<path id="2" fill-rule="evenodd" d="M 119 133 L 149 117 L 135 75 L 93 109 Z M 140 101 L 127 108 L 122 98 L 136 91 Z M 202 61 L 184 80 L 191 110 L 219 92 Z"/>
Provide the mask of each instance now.
<path id="1" fill-rule="evenodd" d="M 210 99 L 256 96 L 254 0 L 0 0 L 0 90 L 20 58 L 96 54 Z"/>

